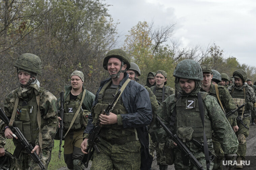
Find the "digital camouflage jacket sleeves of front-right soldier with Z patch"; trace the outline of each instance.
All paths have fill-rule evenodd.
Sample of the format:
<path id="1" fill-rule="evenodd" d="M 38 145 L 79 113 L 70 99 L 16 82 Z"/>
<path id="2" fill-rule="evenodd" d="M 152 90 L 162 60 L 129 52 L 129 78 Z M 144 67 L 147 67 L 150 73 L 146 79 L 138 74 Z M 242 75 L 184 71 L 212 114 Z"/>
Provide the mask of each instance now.
<path id="1" fill-rule="evenodd" d="M 182 98 L 186 98 L 186 96 L 182 96 Z M 222 149 L 225 154 L 234 154 L 237 151 L 238 147 L 238 141 L 236 138 L 236 135 L 231 128 L 231 126 L 228 123 L 227 118 L 223 114 L 223 111 L 221 107 L 218 105 L 216 98 L 206 95 L 204 98 L 205 103 L 205 119 L 210 119 L 212 124 L 212 129 L 214 130 L 216 134 L 216 138 L 220 141 L 222 144 Z M 174 95 L 169 96 L 167 99 L 165 99 L 164 102 L 160 105 L 157 115 L 162 119 L 165 125 L 169 126 L 170 122 L 170 116 L 173 112 L 176 104 L 176 99 Z M 178 112 L 177 112 L 178 114 Z M 176 126 L 176 123 L 175 123 Z M 174 127 L 176 129 L 176 127 Z M 167 137 L 167 133 L 163 130 L 161 126 L 154 126 L 153 127 L 153 133 L 154 137 L 158 141 L 165 141 L 169 137 Z M 176 132 L 174 132 L 176 133 Z M 203 142 L 203 141 L 201 141 Z M 207 139 L 207 143 L 209 147 L 212 147 L 212 139 Z M 193 150 L 193 148 L 198 148 L 192 141 L 187 142 L 187 146 L 190 150 Z M 195 151 L 197 152 L 197 151 Z"/>

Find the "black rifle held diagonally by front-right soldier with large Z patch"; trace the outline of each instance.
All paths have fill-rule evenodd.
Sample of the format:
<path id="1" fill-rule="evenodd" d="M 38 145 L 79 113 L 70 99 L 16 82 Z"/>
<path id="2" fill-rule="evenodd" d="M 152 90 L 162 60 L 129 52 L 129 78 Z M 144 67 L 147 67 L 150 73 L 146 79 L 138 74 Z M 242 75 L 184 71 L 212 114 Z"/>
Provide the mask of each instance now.
<path id="1" fill-rule="evenodd" d="M 164 128 L 165 132 L 172 138 L 172 140 L 178 145 L 179 149 L 185 153 L 185 156 L 188 156 L 190 162 L 197 169 L 204 170 L 202 164 L 195 158 L 195 156 L 190 152 L 186 145 L 183 144 L 183 142 L 179 139 L 178 135 L 173 134 L 158 116 L 156 117 L 156 120 L 160 123 L 160 125 Z"/>

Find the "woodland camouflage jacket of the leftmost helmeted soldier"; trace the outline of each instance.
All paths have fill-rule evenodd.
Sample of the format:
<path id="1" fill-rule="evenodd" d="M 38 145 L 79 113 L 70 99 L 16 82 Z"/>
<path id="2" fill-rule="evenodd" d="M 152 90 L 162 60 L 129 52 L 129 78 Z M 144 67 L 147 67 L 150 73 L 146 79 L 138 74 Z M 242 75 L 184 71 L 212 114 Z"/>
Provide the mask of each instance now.
<path id="1" fill-rule="evenodd" d="M 52 93 L 46 90 L 39 94 L 39 87 L 37 84 L 30 84 L 28 89 L 30 88 L 32 88 L 32 93 L 27 93 L 28 98 L 31 97 L 30 95 L 40 95 L 39 109 L 41 113 L 41 120 L 44 119 L 46 122 L 48 122 L 47 124 L 41 124 L 42 149 L 51 148 L 54 146 L 54 136 L 59 124 L 57 99 Z M 4 110 L 8 118 L 10 118 L 12 115 L 16 97 L 20 96 L 20 89 L 21 87 L 10 92 L 7 95 L 7 98 L 4 100 Z M 35 145 L 39 145 L 39 138 L 35 140 Z"/>

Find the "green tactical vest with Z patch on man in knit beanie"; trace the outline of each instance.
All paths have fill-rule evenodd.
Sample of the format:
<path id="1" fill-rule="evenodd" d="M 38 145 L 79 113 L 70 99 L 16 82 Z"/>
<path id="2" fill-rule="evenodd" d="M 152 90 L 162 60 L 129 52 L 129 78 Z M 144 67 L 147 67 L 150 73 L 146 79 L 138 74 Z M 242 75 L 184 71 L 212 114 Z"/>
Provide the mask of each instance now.
<path id="1" fill-rule="evenodd" d="M 64 114 L 63 114 L 63 123 L 64 129 L 68 130 L 71 121 L 75 115 L 75 112 L 79 109 L 79 105 L 81 103 L 83 93 L 80 93 L 76 100 L 70 100 L 70 93 L 67 95 L 65 102 L 64 102 Z M 80 108 L 77 117 L 73 125 L 71 126 L 70 130 L 79 130 L 83 128 L 83 109 Z"/>

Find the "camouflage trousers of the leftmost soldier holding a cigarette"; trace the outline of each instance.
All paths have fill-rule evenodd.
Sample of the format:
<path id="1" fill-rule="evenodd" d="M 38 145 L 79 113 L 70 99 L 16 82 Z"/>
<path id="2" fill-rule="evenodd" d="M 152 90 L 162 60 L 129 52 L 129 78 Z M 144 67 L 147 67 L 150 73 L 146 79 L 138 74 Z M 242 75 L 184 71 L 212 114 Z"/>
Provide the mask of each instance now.
<path id="1" fill-rule="evenodd" d="M 51 161 L 52 148 L 43 149 L 43 160 L 42 163 L 47 169 Z M 15 169 L 16 170 L 41 170 L 41 168 L 34 162 L 31 156 L 27 153 L 21 152 L 19 159 L 15 160 Z"/>

